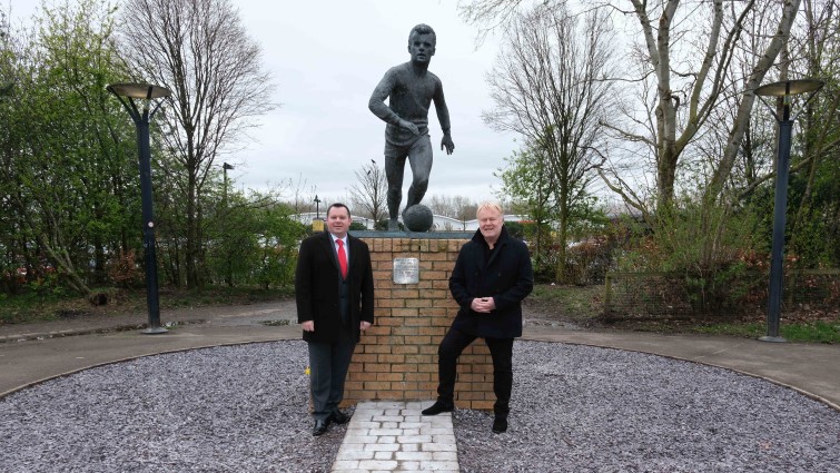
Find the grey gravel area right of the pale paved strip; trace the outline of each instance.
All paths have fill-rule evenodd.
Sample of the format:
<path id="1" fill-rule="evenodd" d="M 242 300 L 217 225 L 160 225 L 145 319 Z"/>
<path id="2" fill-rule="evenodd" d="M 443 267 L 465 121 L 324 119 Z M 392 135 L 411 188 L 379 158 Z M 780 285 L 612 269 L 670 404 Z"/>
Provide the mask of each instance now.
<path id="1" fill-rule="evenodd" d="M 840 413 L 763 380 L 666 357 L 514 344 L 507 433 L 456 410 L 464 472 L 840 472 Z"/>

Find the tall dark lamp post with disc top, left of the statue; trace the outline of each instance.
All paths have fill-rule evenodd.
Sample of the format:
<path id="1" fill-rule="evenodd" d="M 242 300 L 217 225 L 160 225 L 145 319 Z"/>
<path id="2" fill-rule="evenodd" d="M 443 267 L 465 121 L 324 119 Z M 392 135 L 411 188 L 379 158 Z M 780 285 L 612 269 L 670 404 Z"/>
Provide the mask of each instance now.
<path id="1" fill-rule="evenodd" d="M 151 149 L 149 146 L 149 119 L 164 104 L 161 100 L 149 112 L 151 99 L 166 98 L 169 89 L 148 83 L 111 83 L 107 90 L 113 93 L 137 126 L 137 149 L 140 165 L 140 197 L 142 200 L 142 246 L 146 263 L 146 304 L 149 311 L 148 327 L 144 334 L 162 334 L 167 329 L 160 326 L 160 303 L 158 299 L 158 263 L 155 254 L 155 217 L 151 207 Z M 137 108 L 135 99 L 142 100 L 142 110 Z"/>

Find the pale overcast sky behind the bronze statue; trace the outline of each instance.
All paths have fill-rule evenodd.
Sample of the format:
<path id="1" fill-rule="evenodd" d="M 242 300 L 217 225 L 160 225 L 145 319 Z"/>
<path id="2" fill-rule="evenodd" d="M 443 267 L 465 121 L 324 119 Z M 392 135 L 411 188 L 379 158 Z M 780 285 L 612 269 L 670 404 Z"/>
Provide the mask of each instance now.
<path id="1" fill-rule="evenodd" d="M 12 0 L 16 20 L 34 11 L 34 0 Z M 429 110 L 435 148 L 427 196 L 493 197 L 493 171 L 518 147 L 514 136 L 482 122 L 492 107 L 485 73 L 496 56 L 491 38 L 476 50 L 476 28 L 457 16 L 454 0 L 302 1 L 236 0 L 281 104 L 259 119 L 256 141 L 225 156 L 240 188 L 264 188 L 286 179 L 305 180 L 322 198 L 344 199 L 354 170 L 375 159 L 382 166 L 385 122 L 367 109 L 385 71 L 408 60 L 408 32 L 427 23 L 437 33 L 429 70 L 443 81 L 455 152 L 439 150 L 442 131 Z M 405 190 L 411 184 L 406 166 Z"/>

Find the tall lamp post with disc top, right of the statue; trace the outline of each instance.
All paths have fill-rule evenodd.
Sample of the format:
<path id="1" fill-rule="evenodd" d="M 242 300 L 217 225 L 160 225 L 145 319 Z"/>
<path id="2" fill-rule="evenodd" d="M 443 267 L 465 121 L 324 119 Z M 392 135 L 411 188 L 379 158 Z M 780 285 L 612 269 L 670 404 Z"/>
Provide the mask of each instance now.
<path id="1" fill-rule="evenodd" d="M 755 95 L 770 108 L 779 122 L 778 159 L 775 162 L 775 200 L 773 204 L 773 243 L 770 249 L 770 288 L 767 304 L 767 335 L 760 337 L 762 342 L 784 342 L 779 335 L 779 321 L 782 305 L 782 279 L 784 274 L 784 225 L 788 213 L 788 176 L 790 175 L 790 147 L 793 120 L 790 116 L 791 97 L 800 93 L 811 93 L 806 100 L 811 100 L 823 82 L 816 79 L 783 80 L 772 82 L 755 89 Z M 782 100 L 782 116 L 779 117 L 773 108 L 764 101 L 764 97 L 777 97 Z"/>

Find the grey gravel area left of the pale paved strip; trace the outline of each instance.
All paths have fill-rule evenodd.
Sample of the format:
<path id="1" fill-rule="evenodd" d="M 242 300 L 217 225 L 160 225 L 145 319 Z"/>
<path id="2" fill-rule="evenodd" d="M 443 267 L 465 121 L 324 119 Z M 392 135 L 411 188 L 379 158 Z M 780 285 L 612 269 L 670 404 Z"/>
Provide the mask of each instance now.
<path id="1" fill-rule="evenodd" d="M 0 402 L 3 472 L 324 472 L 346 426 L 312 436 L 306 345 L 162 354 Z"/>

